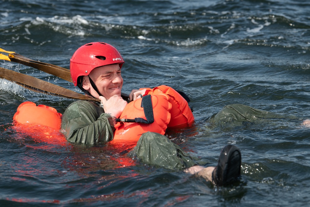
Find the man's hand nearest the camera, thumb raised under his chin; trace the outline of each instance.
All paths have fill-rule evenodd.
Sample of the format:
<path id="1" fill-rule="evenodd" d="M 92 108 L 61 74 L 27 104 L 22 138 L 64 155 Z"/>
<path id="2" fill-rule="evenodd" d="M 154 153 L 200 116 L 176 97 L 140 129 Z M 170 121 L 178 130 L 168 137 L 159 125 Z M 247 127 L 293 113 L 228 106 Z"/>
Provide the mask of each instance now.
<path id="1" fill-rule="evenodd" d="M 114 95 L 108 100 L 103 96 L 100 96 L 99 99 L 103 104 L 104 112 L 116 118 L 120 117 L 125 106 L 127 105 L 127 101 L 123 100 L 122 97 L 118 95 Z"/>

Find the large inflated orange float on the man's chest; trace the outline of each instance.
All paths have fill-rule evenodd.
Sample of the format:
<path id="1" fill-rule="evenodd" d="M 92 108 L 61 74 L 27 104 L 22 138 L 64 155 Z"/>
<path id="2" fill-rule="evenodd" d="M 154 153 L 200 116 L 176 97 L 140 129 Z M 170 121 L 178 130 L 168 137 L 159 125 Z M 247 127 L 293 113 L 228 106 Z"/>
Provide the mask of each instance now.
<path id="1" fill-rule="evenodd" d="M 113 142 L 137 142 L 141 134 L 156 132 L 165 134 L 167 127 L 191 124 L 194 116 L 188 106 L 188 102 L 173 88 L 158 86 L 147 89 L 145 95 L 151 95 L 154 122 L 152 124 L 118 122 L 115 125 Z M 123 110 L 120 119 L 145 119 L 144 110 L 141 107 L 142 99 L 131 101 Z"/>

